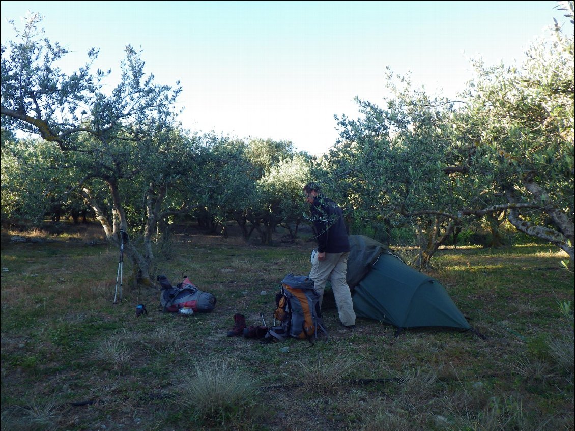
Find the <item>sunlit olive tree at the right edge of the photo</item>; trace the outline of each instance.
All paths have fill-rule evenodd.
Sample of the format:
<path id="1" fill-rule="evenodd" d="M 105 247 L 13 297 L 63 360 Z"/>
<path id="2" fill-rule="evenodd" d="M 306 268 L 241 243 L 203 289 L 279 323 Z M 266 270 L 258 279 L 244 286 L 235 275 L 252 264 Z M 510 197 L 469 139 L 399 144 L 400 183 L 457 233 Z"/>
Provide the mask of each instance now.
<path id="1" fill-rule="evenodd" d="M 572 260 L 573 48 L 571 25 L 532 44 L 521 66 L 476 61 L 470 102 L 455 118 L 462 145 L 482 155 L 467 174 L 489 179 L 517 230 L 553 243 Z"/>

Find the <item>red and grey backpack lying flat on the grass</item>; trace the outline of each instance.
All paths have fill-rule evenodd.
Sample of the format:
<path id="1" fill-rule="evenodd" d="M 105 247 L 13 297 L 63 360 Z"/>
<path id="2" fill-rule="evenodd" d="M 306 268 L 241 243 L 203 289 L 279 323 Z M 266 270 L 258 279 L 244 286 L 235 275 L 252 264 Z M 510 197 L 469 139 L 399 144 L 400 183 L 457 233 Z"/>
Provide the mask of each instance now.
<path id="1" fill-rule="evenodd" d="M 166 283 L 166 278 L 159 276 L 158 280 L 162 286 L 160 303 L 164 311 L 176 312 L 183 307 L 190 307 L 194 313 L 209 313 L 216 306 L 216 297 L 209 292 L 200 290 L 189 278 L 184 278 L 178 286 L 171 286 Z M 160 279 L 162 278 L 162 279 Z"/>

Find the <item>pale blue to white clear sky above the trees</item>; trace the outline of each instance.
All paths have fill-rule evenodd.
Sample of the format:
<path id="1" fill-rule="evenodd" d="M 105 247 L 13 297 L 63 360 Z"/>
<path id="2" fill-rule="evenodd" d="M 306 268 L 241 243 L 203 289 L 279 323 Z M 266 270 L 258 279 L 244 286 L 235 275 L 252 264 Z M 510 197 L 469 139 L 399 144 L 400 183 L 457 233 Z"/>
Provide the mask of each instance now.
<path id="1" fill-rule="evenodd" d="M 382 103 L 386 66 L 455 97 L 471 78 L 469 57 L 523 61 L 553 18 L 566 21 L 557 4 L 2 0 L 0 40 L 14 39 L 6 21 L 21 29 L 30 10 L 43 14 L 46 36 L 72 52 L 76 68 L 96 47 L 96 66 L 117 71 L 132 44 L 156 82 L 181 82 L 185 128 L 322 153 L 338 137 L 333 115 L 358 116 L 356 95 Z"/>

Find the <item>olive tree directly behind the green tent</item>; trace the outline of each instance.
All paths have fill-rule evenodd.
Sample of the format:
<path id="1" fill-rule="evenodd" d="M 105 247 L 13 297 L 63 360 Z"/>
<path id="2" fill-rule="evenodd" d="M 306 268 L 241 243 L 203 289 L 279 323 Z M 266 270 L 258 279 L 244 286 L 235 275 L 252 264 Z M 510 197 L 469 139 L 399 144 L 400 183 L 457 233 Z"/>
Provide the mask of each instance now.
<path id="1" fill-rule="evenodd" d="M 439 245 L 465 223 L 462 209 L 484 184 L 458 178 L 450 168 L 453 103 L 432 98 L 400 77 L 387 109 L 356 98 L 362 114 L 339 120 L 340 138 L 321 161 L 324 182 L 344 191 L 340 198 L 355 220 L 413 226 L 419 238 L 416 265 L 427 265 Z"/>

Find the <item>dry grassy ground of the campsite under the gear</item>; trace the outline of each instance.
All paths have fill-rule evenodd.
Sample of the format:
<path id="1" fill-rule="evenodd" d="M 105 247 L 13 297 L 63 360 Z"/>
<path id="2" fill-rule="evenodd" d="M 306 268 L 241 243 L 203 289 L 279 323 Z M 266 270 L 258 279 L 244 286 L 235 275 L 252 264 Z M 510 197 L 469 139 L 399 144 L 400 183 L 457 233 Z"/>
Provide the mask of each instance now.
<path id="1" fill-rule="evenodd" d="M 216 295 L 212 313 L 162 313 L 156 287 L 113 304 L 118 249 L 97 231 L 2 237 L 2 430 L 572 430 L 573 273 L 546 246 L 441 250 L 438 279 L 488 337 L 408 330 L 324 310 L 328 340 L 226 337 L 271 320 L 313 242 L 262 247 L 187 230 L 159 264 Z M 136 317 L 135 307 L 148 314 Z"/>

